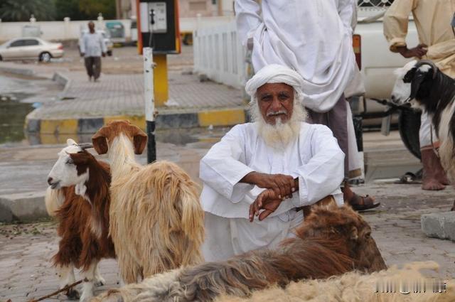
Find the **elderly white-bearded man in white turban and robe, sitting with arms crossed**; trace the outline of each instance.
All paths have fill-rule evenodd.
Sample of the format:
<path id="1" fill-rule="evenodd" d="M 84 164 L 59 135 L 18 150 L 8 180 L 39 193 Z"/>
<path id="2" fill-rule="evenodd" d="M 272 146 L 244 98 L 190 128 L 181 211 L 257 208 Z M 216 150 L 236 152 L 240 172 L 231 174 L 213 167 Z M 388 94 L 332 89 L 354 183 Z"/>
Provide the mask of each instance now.
<path id="1" fill-rule="evenodd" d="M 282 65 L 259 70 L 246 85 L 253 122 L 200 161 L 205 261 L 274 248 L 304 220 L 301 207 L 328 195 L 343 204 L 344 153 L 327 126 L 305 122 L 303 81 Z"/>

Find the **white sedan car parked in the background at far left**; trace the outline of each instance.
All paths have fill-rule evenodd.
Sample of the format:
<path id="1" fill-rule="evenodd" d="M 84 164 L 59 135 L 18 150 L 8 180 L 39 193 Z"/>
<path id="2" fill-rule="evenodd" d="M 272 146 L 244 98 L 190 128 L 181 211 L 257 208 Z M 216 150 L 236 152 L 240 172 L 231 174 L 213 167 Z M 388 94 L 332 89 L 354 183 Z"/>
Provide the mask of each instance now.
<path id="1" fill-rule="evenodd" d="M 0 45 L 0 60 L 38 59 L 49 62 L 65 54 L 62 43 L 50 43 L 41 38 L 16 38 Z"/>

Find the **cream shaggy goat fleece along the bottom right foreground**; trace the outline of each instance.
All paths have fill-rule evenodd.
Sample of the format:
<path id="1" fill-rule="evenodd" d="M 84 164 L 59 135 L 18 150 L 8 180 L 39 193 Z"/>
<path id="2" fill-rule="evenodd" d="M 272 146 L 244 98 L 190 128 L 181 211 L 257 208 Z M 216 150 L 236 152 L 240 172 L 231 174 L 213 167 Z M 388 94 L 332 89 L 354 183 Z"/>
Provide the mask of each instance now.
<path id="1" fill-rule="evenodd" d="M 274 286 L 255 291 L 249 298 L 220 296 L 215 302 L 454 302 L 454 279 L 445 280 L 446 289 L 442 289 L 441 293 L 434 293 L 431 286 L 427 286 L 424 293 L 413 293 L 410 287 L 410 293 L 400 293 L 400 284 L 410 286 L 424 280 L 421 269 L 437 271 L 438 267 L 432 261 L 413 262 L 403 269 L 392 266 L 373 274 L 350 272 L 326 280 L 292 282 L 286 288 Z M 431 280 L 426 280 L 431 284 Z M 395 293 L 376 292 L 376 284 L 384 284 L 385 281 L 398 285 Z"/>

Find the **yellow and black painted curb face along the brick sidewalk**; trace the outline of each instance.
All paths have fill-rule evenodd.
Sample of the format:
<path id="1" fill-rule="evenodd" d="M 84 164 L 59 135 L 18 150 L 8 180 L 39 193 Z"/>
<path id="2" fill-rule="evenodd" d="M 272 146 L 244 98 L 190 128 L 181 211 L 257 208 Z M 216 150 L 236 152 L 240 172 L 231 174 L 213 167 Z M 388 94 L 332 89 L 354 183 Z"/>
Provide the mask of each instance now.
<path id="1" fill-rule="evenodd" d="M 159 109 L 159 108 L 158 108 Z M 93 134 L 115 119 L 129 119 L 141 129 L 146 128 L 144 115 L 115 115 L 82 119 L 26 118 L 25 128 L 31 134 Z M 164 109 L 156 117 L 157 129 L 196 128 L 206 126 L 233 126 L 249 120 L 247 107 L 204 110 Z"/>

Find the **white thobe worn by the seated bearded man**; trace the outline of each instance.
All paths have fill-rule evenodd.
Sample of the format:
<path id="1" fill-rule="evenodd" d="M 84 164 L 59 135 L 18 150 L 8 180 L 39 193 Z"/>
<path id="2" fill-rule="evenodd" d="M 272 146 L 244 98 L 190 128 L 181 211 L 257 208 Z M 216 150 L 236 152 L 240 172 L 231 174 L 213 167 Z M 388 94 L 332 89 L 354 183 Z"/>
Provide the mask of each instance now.
<path id="1" fill-rule="evenodd" d="M 200 161 L 200 196 L 205 219 L 205 260 L 222 260 L 259 247 L 276 247 L 303 220 L 296 207 L 327 195 L 343 204 L 344 153 L 328 127 L 301 123 L 298 138 L 277 151 L 265 144 L 257 124 L 234 126 Z M 299 191 L 262 222 L 248 221 L 251 203 L 262 188 L 240 183 L 248 173 L 282 173 L 299 179 Z"/>

